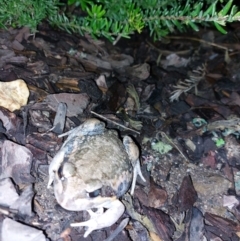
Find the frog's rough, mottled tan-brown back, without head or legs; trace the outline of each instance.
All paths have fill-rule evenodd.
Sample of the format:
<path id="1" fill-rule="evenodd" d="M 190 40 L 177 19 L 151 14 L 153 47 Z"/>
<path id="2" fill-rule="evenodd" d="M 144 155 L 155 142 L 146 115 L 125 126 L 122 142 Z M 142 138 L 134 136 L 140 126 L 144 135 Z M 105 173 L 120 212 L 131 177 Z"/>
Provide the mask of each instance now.
<path id="1" fill-rule="evenodd" d="M 123 195 L 131 184 L 132 166 L 114 131 L 81 137 L 69 161 L 75 163 L 77 174 L 85 183 L 98 180 L 103 187 L 111 186 L 117 196 Z"/>

